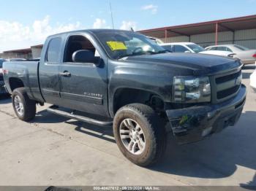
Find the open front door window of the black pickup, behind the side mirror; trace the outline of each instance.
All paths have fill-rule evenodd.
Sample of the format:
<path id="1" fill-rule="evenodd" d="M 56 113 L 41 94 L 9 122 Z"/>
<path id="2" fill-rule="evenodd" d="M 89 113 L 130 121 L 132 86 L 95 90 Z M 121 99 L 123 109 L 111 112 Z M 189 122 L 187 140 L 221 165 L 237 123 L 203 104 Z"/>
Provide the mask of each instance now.
<path id="1" fill-rule="evenodd" d="M 74 35 L 69 36 L 64 53 L 64 62 L 73 62 L 72 55 L 78 50 L 89 50 L 94 53 L 95 58 L 99 58 L 99 52 L 95 49 L 94 45 L 91 44 L 89 39 L 85 36 Z"/>

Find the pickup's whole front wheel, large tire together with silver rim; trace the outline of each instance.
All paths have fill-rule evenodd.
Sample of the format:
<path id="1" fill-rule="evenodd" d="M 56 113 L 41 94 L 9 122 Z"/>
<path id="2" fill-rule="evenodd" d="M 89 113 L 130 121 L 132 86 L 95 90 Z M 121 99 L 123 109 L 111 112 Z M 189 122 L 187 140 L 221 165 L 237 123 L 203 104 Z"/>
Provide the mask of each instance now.
<path id="1" fill-rule="evenodd" d="M 136 165 L 157 163 L 165 153 L 165 124 L 150 106 L 129 104 L 118 109 L 113 132 L 120 151 Z"/>

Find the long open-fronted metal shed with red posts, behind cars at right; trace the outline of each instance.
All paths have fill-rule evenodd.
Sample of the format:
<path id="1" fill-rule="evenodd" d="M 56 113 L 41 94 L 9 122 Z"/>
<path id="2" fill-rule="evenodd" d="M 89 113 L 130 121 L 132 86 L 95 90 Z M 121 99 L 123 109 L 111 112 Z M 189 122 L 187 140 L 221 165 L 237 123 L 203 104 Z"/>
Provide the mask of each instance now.
<path id="1" fill-rule="evenodd" d="M 240 44 L 256 49 L 256 15 L 138 32 L 159 38 L 163 42 L 195 42 L 203 47 L 213 44 Z"/>

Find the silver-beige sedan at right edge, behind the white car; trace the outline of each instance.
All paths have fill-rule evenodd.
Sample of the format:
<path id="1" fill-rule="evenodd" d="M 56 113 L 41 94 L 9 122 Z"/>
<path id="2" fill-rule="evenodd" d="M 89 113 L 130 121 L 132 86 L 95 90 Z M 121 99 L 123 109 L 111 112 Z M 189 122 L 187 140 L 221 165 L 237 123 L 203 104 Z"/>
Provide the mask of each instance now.
<path id="1" fill-rule="evenodd" d="M 206 50 L 230 51 L 236 54 L 243 64 L 255 63 L 256 50 L 240 46 L 238 44 L 221 44 L 216 46 L 206 47 Z"/>

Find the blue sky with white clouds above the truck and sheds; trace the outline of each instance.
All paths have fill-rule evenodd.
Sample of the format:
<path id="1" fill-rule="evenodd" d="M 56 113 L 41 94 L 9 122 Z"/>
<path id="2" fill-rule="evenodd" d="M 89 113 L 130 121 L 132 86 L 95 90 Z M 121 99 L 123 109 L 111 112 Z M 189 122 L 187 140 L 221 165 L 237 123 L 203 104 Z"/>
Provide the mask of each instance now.
<path id="1" fill-rule="evenodd" d="M 0 0 L 0 52 L 86 28 L 143 30 L 256 15 L 256 0 Z"/>

